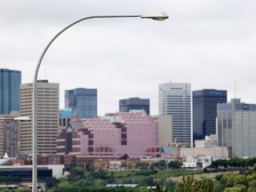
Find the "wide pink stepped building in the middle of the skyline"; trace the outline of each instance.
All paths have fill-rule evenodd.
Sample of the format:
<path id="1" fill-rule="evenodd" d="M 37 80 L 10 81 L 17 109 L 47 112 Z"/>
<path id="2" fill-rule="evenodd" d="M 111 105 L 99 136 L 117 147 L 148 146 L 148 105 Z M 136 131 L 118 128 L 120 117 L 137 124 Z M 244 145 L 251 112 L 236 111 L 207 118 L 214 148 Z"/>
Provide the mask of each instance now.
<path id="1" fill-rule="evenodd" d="M 72 126 L 73 125 L 73 126 Z M 120 112 L 100 118 L 73 119 L 70 127 L 60 132 L 59 155 L 87 156 L 156 156 L 156 123 L 140 112 Z M 69 130 L 69 132 L 68 132 Z M 69 134 L 69 135 L 68 135 Z M 72 137 L 72 142 L 68 138 Z M 70 147 L 72 146 L 72 147 Z M 67 150 L 72 148 L 72 150 Z"/>

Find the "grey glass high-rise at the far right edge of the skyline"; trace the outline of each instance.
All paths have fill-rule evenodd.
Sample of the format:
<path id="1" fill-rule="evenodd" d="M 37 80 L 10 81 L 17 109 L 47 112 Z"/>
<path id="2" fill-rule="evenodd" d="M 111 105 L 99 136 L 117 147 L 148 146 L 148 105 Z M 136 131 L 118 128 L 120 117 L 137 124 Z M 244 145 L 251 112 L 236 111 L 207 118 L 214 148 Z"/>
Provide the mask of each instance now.
<path id="1" fill-rule="evenodd" d="M 228 148 L 229 158 L 256 156 L 256 104 L 218 104 L 217 121 L 218 145 Z"/>

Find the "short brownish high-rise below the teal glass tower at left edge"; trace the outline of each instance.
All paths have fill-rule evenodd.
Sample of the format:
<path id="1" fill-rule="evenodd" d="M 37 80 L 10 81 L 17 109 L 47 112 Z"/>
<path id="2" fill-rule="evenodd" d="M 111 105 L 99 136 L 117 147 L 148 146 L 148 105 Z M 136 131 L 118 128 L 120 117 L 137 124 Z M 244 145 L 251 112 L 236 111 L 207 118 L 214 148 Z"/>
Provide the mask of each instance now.
<path id="1" fill-rule="evenodd" d="M 19 121 L 12 118 L 19 116 L 19 112 L 12 111 L 11 115 L 0 116 L 0 157 L 6 153 L 10 157 L 19 155 Z"/>

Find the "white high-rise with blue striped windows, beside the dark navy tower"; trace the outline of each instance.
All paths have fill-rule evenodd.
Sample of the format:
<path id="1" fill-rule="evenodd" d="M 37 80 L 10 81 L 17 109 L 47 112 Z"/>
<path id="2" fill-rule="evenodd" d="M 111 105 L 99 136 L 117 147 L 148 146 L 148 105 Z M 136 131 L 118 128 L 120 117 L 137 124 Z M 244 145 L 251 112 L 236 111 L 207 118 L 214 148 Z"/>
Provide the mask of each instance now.
<path id="1" fill-rule="evenodd" d="M 191 142 L 191 85 L 159 84 L 159 115 L 172 115 L 172 142 Z"/>

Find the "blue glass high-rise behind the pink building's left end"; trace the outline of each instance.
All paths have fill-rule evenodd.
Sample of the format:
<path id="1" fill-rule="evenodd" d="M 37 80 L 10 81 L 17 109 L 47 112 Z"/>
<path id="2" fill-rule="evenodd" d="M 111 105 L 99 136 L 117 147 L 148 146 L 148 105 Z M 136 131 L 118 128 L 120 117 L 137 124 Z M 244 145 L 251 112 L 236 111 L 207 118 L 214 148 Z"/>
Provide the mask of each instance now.
<path id="1" fill-rule="evenodd" d="M 94 118 L 98 116 L 97 89 L 66 90 L 65 108 L 72 109 L 72 117 Z"/>

